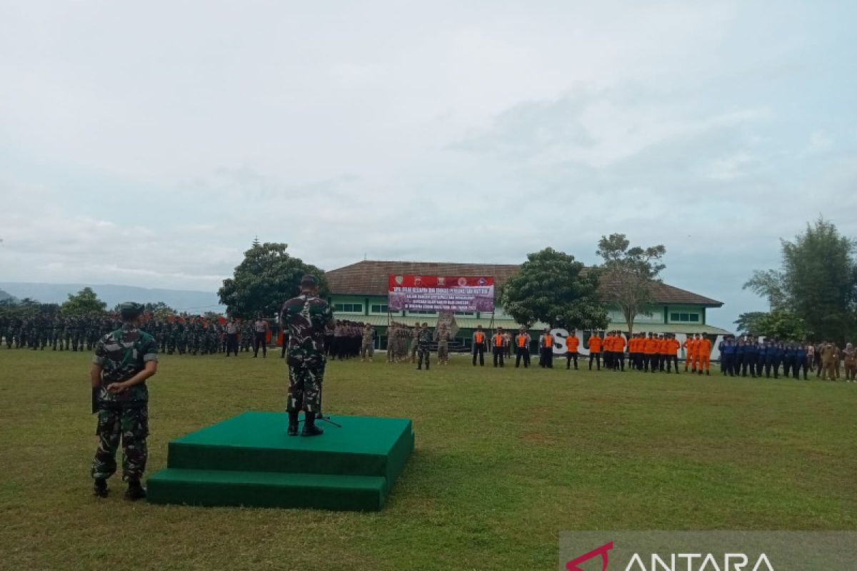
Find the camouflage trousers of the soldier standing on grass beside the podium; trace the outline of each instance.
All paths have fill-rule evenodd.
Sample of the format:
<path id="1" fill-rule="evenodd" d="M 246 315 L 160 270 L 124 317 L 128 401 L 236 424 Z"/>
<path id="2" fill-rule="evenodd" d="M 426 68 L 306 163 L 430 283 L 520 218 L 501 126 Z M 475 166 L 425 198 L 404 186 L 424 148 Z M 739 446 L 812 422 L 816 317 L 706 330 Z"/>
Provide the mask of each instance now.
<path id="1" fill-rule="evenodd" d="M 106 479 L 116 473 L 116 451 L 122 437 L 122 479 L 139 480 L 146 469 L 149 435 L 147 403 L 122 405 L 99 410 L 99 449 L 93 460 L 93 478 Z"/>

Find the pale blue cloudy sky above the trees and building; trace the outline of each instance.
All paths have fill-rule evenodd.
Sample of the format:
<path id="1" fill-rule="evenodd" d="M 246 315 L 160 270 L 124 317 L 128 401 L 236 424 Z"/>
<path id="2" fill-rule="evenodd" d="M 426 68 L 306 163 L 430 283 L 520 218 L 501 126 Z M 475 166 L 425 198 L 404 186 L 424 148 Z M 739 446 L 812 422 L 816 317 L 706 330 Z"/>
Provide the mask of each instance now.
<path id="1" fill-rule="evenodd" d="M 663 244 L 721 300 L 857 235 L 857 3 L 0 0 L 0 281 L 214 290 Z"/>

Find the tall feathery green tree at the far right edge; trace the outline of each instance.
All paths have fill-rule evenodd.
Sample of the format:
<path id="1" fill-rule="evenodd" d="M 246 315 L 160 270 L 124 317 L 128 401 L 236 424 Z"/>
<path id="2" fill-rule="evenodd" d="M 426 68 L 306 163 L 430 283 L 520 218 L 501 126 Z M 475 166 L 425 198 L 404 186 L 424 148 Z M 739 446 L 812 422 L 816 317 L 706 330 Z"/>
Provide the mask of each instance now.
<path id="1" fill-rule="evenodd" d="M 794 313 L 815 338 L 844 342 L 857 330 L 857 242 L 818 218 L 781 243 L 780 269 L 753 272 L 744 288 L 766 297 L 772 312 Z"/>

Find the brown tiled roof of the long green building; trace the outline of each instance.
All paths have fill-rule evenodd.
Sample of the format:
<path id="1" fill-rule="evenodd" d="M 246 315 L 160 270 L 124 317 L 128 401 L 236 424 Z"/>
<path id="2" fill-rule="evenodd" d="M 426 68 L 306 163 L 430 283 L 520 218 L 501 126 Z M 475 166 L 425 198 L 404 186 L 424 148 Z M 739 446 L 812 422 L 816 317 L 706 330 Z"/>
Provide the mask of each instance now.
<path id="1" fill-rule="evenodd" d="M 387 295 L 390 274 L 416 276 L 493 276 L 498 288 L 520 269 L 517 264 L 446 264 L 443 262 L 381 262 L 364 260 L 327 271 L 327 283 L 334 294 Z M 602 283 L 602 287 L 604 284 Z M 655 286 L 656 303 L 686 303 L 720 307 L 722 301 L 675 288 L 666 283 Z"/>

